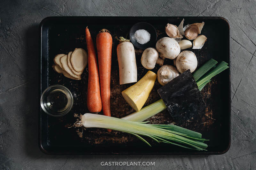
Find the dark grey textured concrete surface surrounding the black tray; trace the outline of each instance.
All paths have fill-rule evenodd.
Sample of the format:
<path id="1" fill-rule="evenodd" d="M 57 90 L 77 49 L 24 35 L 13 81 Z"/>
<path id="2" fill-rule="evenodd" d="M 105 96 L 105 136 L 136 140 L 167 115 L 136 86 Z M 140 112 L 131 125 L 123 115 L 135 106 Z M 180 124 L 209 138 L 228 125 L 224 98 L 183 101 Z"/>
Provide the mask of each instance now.
<path id="1" fill-rule="evenodd" d="M 0 169 L 256 169 L 255 8 L 255 0 L 1 0 Z M 227 18 L 231 25 L 232 79 L 229 151 L 209 156 L 49 156 L 42 153 L 37 133 L 38 25 L 48 16 Z M 155 166 L 101 166 L 102 161 L 155 161 Z"/>

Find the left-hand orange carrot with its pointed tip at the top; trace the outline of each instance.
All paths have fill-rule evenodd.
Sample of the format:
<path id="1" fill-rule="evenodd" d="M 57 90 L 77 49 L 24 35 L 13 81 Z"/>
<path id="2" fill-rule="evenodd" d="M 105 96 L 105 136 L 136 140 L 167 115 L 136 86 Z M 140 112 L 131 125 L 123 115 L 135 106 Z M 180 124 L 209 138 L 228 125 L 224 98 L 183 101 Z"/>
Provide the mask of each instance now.
<path id="1" fill-rule="evenodd" d="M 90 112 L 100 112 L 102 109 L 100 98 L 99 70 L 96 51 L 88 27 L 85 29 L 85 38 L 88 50 L 88 89 L 87 108 Z"/>

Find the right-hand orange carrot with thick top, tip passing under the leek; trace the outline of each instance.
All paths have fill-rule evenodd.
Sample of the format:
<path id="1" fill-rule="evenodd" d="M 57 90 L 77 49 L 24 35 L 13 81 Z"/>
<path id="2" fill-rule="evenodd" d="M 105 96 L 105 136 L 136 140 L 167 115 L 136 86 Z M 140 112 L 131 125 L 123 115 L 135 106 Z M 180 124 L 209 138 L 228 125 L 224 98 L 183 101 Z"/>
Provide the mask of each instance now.
<path id="1" fill-rule="evenodd" d="M 100 72 L 100 94 L 103 114 L 111 116 L 110 112 L 110 73 L 112 55 L 112 36 L 109 31 L 102 29 L 96 37 L 96 46 Z M 108 131 L 111 131 L 108 129 Z"/>

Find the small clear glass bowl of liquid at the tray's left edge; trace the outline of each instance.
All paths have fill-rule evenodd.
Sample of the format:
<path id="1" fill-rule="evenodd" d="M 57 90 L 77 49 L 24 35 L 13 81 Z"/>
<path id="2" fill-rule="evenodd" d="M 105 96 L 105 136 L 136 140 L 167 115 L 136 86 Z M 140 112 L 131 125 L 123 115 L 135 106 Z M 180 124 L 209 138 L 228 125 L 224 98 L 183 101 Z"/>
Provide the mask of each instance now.
<path id="1" fill-rule="evenodd" d="M 48 87 L 40 99 L 40 105 L 44 112 L 54 117 L 66 115 L 71 110 L 73 102 L 72 93 L 62 85 Z"/>

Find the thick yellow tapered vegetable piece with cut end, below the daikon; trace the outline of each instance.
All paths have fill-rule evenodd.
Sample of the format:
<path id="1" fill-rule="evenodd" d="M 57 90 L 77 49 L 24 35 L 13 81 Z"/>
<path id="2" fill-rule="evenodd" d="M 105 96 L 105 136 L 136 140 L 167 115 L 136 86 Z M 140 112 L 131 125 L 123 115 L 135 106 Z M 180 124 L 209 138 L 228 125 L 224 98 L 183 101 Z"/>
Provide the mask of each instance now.
<path id="1" fill-rule="evenodd" d="M 148 71 L 136 84 L 122 91 L 126 102 L 136 111 L 140 111 L 148 99 L 156 81 L 156 74 Z"/>

